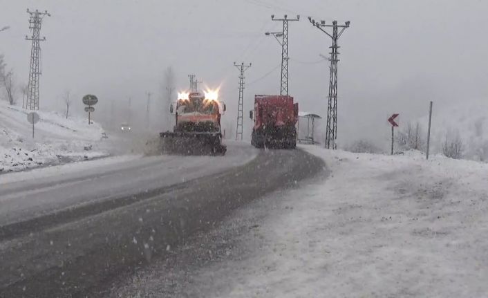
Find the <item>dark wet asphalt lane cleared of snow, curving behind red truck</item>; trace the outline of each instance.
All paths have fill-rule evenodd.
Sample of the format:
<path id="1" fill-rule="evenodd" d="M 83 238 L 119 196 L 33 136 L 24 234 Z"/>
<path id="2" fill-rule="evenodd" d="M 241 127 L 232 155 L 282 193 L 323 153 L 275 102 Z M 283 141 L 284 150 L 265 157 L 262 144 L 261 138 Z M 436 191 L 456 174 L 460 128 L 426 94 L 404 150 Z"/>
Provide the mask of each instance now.
<path id="1" fill-rule="evenodd" d="M 18 223 L 0 233 L 0 297 L 86 297 L 323 167 L 300 150 L 261 151 L 219 174 Z"/>

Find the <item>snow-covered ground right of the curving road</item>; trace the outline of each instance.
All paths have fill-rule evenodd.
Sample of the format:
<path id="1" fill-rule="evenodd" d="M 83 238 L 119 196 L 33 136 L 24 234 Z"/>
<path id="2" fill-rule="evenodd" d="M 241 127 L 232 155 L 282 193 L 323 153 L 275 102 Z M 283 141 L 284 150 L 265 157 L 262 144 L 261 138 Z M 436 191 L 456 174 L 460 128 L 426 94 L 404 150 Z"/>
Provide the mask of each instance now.
<path id="1" fill-rule="evenodd" d="M 153 264 L 113 297 L 160 297 L 178 274 L 181 297 L 488 297 L 487 164 L 303 149 L 328 177 L 237 212 L 207 266 Z"/>

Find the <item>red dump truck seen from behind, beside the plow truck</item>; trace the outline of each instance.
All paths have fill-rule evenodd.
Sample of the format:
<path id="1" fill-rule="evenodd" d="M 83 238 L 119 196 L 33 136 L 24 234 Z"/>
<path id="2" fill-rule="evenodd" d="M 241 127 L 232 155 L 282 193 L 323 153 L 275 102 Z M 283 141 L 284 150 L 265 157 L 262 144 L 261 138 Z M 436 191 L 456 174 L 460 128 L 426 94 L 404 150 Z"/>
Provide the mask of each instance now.
<path id="1" fill-rule="evenodd" d="M 251 144 L 256 148 L 297 146 L 298 103 L 288 95 L 255 95 Z"/>

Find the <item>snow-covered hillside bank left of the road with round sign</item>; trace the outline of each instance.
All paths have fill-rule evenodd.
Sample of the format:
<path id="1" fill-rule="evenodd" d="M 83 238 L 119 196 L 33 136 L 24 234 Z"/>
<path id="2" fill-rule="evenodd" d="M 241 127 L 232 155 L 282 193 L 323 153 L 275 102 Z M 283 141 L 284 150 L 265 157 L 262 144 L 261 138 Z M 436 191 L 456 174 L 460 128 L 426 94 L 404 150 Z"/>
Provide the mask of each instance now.
<path id="1" fill-rule="evenodd" d="M 27 121 L 30 111 L 0 102 L 0 174 L 41 165 L 106 156 L 98 150 L 104 131 L 99 124 L 55 112 L 37 111 L 39 122 Z"/>

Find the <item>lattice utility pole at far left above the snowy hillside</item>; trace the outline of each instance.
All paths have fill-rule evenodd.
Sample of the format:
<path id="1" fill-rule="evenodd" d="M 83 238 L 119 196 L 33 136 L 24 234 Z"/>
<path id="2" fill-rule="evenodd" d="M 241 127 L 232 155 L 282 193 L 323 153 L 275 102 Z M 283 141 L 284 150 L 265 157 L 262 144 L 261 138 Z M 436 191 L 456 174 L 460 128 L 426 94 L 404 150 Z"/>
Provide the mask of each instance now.
<path id="1" fill-rule="evenodd" d="M 50 14 L 47 10 L 39 12 L 39 10 L 27 10 L 29 17 L 29 29 L 32 30 L 32 35 L 26 40 L 32 41 L 30 50 L 30 68 L 29 68 L 29 83 L 27 87 L 27 102 L 26 108 L 30 110 L 39 110 L 39 75 L 41 75 L 41 46 L 39 41 L 45 41 L 46 37 L 40 37 L 42 19 Z"/>

